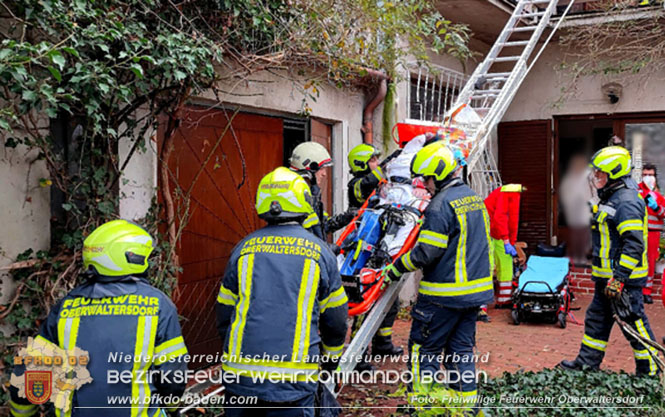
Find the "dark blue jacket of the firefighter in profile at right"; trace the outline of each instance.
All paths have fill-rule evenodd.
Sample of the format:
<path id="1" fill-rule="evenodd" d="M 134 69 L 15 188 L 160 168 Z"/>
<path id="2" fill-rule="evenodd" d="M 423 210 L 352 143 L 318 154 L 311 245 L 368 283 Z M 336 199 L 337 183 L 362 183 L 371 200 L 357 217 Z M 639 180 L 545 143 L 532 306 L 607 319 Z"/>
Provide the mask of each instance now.
<path id="1" fill-rule="evenodd" d="M 598 193 L 591 225 L 592 278 L 613 276 L 627 285 L 643 286 L 648 273 L 648 222 L 637 184 L 623 177 Z"/>

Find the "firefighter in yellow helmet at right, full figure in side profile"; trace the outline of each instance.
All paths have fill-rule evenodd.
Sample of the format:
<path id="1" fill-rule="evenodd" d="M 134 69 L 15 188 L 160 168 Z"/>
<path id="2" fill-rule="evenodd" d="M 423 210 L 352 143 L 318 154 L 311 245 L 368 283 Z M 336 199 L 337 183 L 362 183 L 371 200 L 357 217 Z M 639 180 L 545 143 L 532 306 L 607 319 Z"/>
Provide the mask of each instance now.
<path id="1" fill-rule="evenodd" d="M 584 336 L 577 358 L 559 364 L 567 370 L 600 367 L 617 308 L 618 313 L 629 311 L 630 314 L 623 313 L 624 321 L 640 335 L 653 340 L 642 299 L 648 274 L 647 214 L 638 186 L 630 178 L 630 153 L 625 148 L 609 146 L 596 152 L 590 165 L 591 181 L 600 199 L 593 208 L 591 225 L 591 274 L 596 287 L 584 319 Z M 655 375 L 656 363 L 650 354 L 653 351 L 629 334 L 624 332 L 624 335 L 633 347 L 637 374 Z"/>

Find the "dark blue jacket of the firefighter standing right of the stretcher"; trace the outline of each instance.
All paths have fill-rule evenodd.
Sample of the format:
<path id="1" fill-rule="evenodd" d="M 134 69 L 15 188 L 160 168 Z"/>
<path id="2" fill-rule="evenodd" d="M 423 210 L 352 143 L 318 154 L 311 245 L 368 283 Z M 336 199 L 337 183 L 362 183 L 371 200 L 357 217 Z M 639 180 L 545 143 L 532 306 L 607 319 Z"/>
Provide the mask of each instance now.
<path id="1" fill-rule="evenodd" d="M 455 178 L 432 198 L 415 246 L 395 267 L 423 270 L 419 297 L 444 307 L 476 307 L 493 299 L 491 251 L 485 204 Z"/>

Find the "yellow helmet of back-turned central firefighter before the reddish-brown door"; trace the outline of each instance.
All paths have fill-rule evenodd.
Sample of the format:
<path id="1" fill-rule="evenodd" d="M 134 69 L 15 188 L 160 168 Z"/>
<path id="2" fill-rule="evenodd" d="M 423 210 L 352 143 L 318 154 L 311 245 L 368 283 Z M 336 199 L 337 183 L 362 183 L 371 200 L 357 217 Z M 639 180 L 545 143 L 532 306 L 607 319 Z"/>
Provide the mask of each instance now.
<path id="1" fill-rule="evenodd" d="M 259 183 L 256 211 L 264 220 L 306 217 L 313 212 L 309 185 L 300 175 L 279 167 Z"/>

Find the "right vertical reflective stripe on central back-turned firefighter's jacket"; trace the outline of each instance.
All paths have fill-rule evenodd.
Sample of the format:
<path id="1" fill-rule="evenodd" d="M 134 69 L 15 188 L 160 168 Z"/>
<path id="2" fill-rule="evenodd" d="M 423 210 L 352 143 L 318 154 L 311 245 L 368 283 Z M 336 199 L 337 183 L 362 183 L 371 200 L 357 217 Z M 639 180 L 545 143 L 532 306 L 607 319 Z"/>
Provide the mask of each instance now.
<path id="1" fill-rule="evenodd" d="M 291 361 L 299 362 L 308 355 L 314 300 L 319 288 L 319 264 L 305 259 L 298 291 L 298 315 L 293 335 Z"/>

